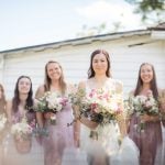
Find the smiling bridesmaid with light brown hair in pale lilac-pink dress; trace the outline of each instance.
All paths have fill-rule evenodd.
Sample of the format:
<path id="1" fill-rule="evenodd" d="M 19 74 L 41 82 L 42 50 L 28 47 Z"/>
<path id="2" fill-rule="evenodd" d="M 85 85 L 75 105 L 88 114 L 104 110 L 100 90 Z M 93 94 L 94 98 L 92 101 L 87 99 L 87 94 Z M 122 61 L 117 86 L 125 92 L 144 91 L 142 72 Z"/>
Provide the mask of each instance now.
<path id="1" fill-rule="evenodd" d="M 45 65 L 45 82 L 38 87 L 36 98 L 41 98 L 46 91 L 67 98 L 73 86 L 64 80 L 61 64 L 50 61 Z M 53 116 L 56 116 L 56 124 L 50 122 Z M 36 118 L 38 127 L 48 130 L 48 136 L 43 138 L 44 164 L 61 165 L 64 150 L 74 146 L 74 129 L 73 125 L 67 127 L 73 121 L 72 105 L 66 102 L 66 106 L 56 114 L 37 112 Z"/>

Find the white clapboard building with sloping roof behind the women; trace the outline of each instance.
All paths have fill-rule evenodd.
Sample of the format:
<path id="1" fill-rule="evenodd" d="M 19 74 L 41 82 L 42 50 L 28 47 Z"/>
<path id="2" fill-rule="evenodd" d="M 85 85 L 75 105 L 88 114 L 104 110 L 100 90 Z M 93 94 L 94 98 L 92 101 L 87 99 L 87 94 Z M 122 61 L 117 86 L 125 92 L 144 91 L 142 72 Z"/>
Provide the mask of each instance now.
<path id="1" fill-rule="evenodd" d="M 0 82 L 7 98 L 13 96 L 19 76 L 32 78 L 34 92 L 44 81 L 44 67 L 50 59 L 62 64 L 66 80 L 77 84 L 87 77 L 90 54 L 97 48 L 110 53 L 113 78 L 124 85 L 124 92 L 135 87 L 139 67 L 148 62 L 155 66 L 157 84 L 165 88 L 165 23 L 158 26 L 95 35 L 43 45 L 0 52 Z"/>

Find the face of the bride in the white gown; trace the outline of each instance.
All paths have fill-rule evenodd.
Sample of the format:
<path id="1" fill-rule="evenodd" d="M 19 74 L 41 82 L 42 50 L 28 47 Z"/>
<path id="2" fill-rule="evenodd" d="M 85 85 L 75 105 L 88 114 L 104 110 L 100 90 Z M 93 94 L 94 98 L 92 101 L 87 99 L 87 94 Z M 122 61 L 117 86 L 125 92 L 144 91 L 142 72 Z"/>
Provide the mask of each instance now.
<path id="1" fill-rule="evenodd" d="M 96 75 L 106 75 L 108 69 L 108 62 L 102 53 L 95 55 L 92 58 L 92 68 Z"/>

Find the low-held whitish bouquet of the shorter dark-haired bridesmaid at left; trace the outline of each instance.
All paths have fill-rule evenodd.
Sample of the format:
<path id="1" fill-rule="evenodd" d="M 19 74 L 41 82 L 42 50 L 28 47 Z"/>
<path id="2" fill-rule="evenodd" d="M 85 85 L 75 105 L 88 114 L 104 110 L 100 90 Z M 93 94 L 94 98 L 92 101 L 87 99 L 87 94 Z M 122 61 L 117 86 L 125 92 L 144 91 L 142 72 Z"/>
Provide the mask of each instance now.
<path id="1" fill-rule="evenodd" d="M 29 140 L 32 136 L 33 128 L 23 118 L 21 122 L 14 123 L 11 127 L 11 133 L 14 135 L 16 141 Z"/>

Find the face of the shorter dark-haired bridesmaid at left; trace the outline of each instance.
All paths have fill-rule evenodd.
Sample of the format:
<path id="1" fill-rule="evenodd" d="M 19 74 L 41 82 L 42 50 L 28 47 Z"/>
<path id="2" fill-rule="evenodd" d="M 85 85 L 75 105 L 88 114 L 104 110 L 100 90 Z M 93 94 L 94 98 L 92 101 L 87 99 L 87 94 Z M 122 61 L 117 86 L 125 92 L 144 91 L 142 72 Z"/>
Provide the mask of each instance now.
<path id="1" fill-rule="evenodd" d="M 31 80 L 29 78 L 23 77 L 19 80 L 18 86 L 20 94 L 29 94 L 31 89 Z"/>

